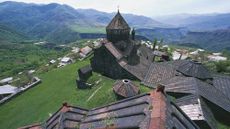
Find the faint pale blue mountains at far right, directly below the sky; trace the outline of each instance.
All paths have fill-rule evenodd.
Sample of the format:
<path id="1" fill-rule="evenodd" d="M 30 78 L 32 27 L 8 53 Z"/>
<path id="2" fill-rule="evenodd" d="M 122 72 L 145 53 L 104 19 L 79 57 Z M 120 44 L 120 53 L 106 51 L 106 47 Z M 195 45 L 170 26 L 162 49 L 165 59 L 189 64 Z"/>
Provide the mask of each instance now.
<path id="1" fill-rule="evenodd" d="M 158 17 L 158 20 L 165 24 L 177 27 L 187 27 L 191 31 L 210 31 L 226 29 L 230 27 L 230 13 L 206 14 L 206 15 L 172 15 Z"/>

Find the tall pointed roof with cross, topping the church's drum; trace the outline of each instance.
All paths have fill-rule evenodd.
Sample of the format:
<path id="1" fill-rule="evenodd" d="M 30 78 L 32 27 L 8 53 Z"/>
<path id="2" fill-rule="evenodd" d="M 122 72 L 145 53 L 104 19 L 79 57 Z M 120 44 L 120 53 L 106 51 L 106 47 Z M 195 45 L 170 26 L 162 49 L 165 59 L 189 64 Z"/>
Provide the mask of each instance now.
<path id="1" fill-rule="evenodd" d="M 121 16 L 119 10 L 106 29 L 130 29 L 125 19 Z"/>

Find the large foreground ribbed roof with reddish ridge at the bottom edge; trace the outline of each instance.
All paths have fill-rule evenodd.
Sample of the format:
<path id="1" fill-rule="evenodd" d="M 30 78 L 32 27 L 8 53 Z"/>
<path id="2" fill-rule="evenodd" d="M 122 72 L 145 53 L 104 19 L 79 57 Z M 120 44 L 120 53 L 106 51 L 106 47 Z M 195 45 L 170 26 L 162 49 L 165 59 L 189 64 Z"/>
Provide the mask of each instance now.
<path id="1" fill-rule="evenodd" d="M 46 121 L 43 127 L 45 129 L 199 129 L 162 92 L 158 89 L 91 110 L 65 104 Z"/>

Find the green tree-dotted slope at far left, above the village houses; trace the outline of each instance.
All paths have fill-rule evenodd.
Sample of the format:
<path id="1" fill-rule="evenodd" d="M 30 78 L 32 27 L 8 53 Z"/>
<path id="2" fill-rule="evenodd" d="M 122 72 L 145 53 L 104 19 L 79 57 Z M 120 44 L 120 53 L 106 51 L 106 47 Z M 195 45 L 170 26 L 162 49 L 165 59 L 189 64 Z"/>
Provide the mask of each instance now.
<path id="1" fill-rule="evenodd" d="M 55 50 L 28 43 L 0 43 L 0 79 L 19 72 L 36 69 L 51 59 L 66 54 L 68 50 Z"/>

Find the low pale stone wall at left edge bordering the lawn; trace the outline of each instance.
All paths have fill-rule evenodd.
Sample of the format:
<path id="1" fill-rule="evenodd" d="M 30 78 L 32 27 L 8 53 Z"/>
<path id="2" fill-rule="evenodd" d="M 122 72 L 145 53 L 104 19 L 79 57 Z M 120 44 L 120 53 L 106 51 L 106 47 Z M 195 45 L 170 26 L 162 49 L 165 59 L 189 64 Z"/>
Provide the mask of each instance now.
<path id="1" fill-rule="evenodd" d="M 13 93 L 13 94 L 11 94 L 11 95 L 9 95 L 9 96 L 3 98 L 2 100 L 0 100 L 0 105 L 6 103 L 6 102 L 8 102 L 8 101 L 10 101 L 12 98 L 14 98 L 14 97 L 20 95 L 21 93 L 27 91 L 28 89 L 30 89 L 30 88 L 36 86 L 36 85 L 39 84 L 39 83 L 41 83 L 41 79 L 39 79 L 38 77 L 34 77 L 34 79 L 36 80 L 35 82 L 33 82 L 33 83 L 29 84 L 29 85 L 26 85 L 26 86 L 23 87 L 23 88 L 22 88 L 22 87 L 19 88 L 18 91 L 17 91 L 16 93 Z"/>

